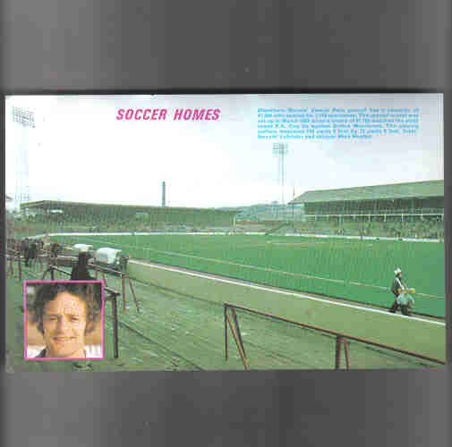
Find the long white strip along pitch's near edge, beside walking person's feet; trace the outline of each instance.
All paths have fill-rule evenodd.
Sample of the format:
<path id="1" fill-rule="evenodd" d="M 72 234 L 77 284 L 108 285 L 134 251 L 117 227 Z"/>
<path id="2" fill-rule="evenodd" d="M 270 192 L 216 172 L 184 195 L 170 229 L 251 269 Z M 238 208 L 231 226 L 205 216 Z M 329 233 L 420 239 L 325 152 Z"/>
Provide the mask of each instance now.
<path id="1" fill-rule="evenodd" d="M 375 312 L 377 314 L 384 314 L 386 316 L 394 316 L 394 317 L 398 317 L 398 318 L 406 318 L 405 315 L 399 315 L 399 314 L 391 314 L 388 312 L 388 310 L 380 310 L 380 309 L 375 309 L 375 308 L 366 308 L 363 306 L 354 306 L 353 304 L 346 304 L 346 303 L 340 303 L 337 301 L 330 301 L 329 299 L 321 299 L 321 298 L 315 298 L 315 297 L 311 297 L 310 295 L 304 295 L 303 293 L 297 293 L 297 292 L 293 292 L 293 291 L 279 291 L 277 289 L 269 289 L 268 287 L 264 287 L 264 286 L 260 286 L 260 285 L 254 285 L 254 284 L 248 284 L 248 283 L 241 283 L 241 282 L 237 282 L 237 281 L 233 281 L 233 280 L 229 280 L 229 279 L 223 279 L 223 278 L 217 278 L 215 276 L 210 276 L 207 274 L 198 274 L 198 273 L 193 273 L 193 272 L 186 272 L 184 270 L 179 270 L 177 268 L 173 268 L 173 267 L 167 267 L 167 266 L 157 266 L 155 264 L 147 264 L 144 262 L 140 262 L 140 261 L 129 261 L 131 264 L 139 264 L 141 266 L 150 266 L 152 268 L 159 268 L 161 270 L 167 270 L 169 272 L 175 272 L 178 274 L 187 274 L 189 276 L 196 276 L 198 278 L 204 278 L 204 279 L 209 279 L 212 281 L 217 281 L 218 283 L 227 283 L 227 284 L 234 284 L 234 285 L 241 285 L 243 287 L 249 287 L 250 289 L 256 289 L 258 291 L 271 291 L 273 293 L 279 293 L 281 295 L 289 295 L 289 296 L 294 296 L 294 297 L 299 297 L 299 298 L 306 298 L 306 299 L 311 299 L 313 301 L 320 301 L 320 302 L 324 302 L 324 303 L 328 303 L 328 304 L 334 304 L 336 306 L 344 306 L 345 308 L 356 308 L 359 310 L 363 310 L 365 312 Z M 442 323 L 440 321 L 434 321 L 434 320 L 428 320 L 428 319 L 424 319 L 424 318 L 419 318 L 417 316 L 409 316 L 410 320 L 415 320 L 415 321 L 422 321 L 423 323 L 430 323 L 431 325 L 442 325 L 445 326 L 445 323 Z"/>

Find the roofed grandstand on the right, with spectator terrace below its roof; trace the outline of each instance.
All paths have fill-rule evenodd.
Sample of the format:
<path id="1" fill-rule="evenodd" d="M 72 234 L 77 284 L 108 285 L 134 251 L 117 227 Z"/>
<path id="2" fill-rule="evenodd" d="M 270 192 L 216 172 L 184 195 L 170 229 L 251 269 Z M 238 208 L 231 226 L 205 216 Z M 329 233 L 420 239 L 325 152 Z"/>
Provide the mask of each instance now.
<path id="1" fill-rule="evenodd" d="M 336 227 L 337 233 L 444 237 L 444 181 L 311 190 L 291 204 L 303 204 L 307 222 L 327 232 Z"/>

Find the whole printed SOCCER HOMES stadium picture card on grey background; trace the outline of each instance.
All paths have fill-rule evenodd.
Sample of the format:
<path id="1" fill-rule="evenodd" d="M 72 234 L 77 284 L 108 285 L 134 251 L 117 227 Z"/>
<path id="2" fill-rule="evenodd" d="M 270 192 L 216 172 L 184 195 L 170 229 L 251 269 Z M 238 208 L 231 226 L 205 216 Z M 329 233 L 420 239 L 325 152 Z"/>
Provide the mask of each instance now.
<path id="1" fill-rule="evenodd" d="M 446 365 L 442 95 L 5 105 L 7 372 Z"/>

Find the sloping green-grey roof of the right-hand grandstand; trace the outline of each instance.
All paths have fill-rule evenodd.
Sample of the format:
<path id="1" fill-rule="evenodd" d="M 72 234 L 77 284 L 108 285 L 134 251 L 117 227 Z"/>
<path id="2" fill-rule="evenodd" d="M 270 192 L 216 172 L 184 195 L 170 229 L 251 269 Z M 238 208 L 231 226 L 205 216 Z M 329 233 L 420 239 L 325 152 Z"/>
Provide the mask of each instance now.
<path id="1" fill-rule="evenodd" d="M 315 203 L 353 200 L 388 200 L 395 198 L 444 197 L 444 181 L 414 181 L 391 185 L 360 186 L 341 190 L 306 191 L 291 203 Z"/>

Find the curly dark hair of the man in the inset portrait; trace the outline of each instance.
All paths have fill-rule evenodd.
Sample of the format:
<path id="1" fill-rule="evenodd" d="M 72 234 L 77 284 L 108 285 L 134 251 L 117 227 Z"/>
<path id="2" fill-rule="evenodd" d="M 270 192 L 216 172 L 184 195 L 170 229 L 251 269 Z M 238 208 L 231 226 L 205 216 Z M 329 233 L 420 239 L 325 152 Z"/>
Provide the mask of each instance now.
<path id="1" fill-rule="evenodd" d="M 100 283 L 43 283 L 37 286 L 36 298 L 30 306 L 34 312 L 33 323 L 38 323 L 38 331 L 44 333 L 44 308 L 49 301 L 53 301 L 59 293 L 71 293 L 82 299 L 87 309 L 87 325 L 85 333 L 95 330 L 102 310 Z"/>

